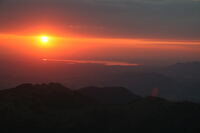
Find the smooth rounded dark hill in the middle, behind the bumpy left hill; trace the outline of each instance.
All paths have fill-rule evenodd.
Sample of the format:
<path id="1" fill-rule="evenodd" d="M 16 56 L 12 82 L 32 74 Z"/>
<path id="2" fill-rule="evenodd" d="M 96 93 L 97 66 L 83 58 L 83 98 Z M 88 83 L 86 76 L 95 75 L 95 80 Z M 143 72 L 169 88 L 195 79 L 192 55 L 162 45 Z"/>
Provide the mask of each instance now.
<path id="1" fill-rule="evenodd" d="M 103 104 L 125 104 L 141 98 L 123 87 L 87 87 L 78 92 Z"/>

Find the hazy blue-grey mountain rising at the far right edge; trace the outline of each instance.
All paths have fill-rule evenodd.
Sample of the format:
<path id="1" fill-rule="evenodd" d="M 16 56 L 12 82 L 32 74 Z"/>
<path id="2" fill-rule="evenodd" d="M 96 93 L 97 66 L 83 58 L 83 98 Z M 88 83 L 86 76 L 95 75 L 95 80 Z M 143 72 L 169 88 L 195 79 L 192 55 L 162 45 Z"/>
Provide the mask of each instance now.
<path id="1" fill-rule="evenodd" d="M 182 100 L 200 102 L 200 62 L 177 63 L 165 67 L 159 73 L 176 81 L 176 95 Z"/>

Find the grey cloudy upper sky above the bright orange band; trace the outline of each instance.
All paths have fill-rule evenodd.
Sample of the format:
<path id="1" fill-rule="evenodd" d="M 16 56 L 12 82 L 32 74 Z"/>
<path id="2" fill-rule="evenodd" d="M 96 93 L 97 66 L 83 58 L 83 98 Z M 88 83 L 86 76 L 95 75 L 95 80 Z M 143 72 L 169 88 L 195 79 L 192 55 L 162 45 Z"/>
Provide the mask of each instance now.
<path id="1" fill-rule="evenodd" d="M 0 1 L 0 33 L 46 28 L 95 37 L 200 38 L 200 0 Z"/>

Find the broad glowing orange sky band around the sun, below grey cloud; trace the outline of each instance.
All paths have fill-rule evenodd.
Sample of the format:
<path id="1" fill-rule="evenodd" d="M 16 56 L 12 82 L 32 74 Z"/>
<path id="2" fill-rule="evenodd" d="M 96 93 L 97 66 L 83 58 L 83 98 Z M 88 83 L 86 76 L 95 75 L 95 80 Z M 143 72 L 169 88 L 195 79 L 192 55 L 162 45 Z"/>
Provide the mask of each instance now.
<path id="1" fill-rule="evenodd" d="M 49 37 L 46 44 L 41 36 Z M 0 51 L 6 55 L 22 55 L 49 59 L 83 59 L 118 61 L 132 58 L 173 59 L 198 58 L 200 41 L 126 39 L 126 38 L 86 38 L 59 37 L 47 34 L 23 36 L 0 34 Z"/>

